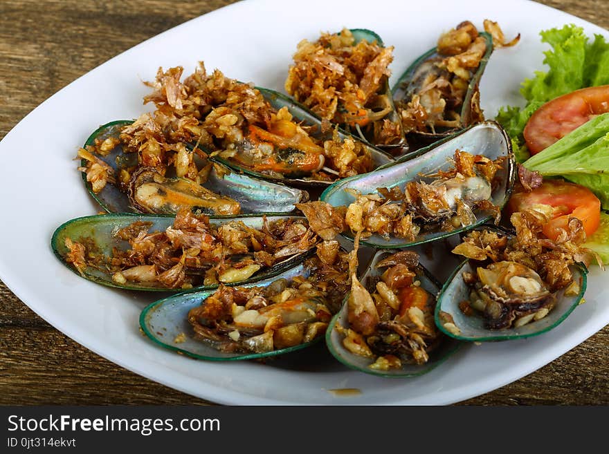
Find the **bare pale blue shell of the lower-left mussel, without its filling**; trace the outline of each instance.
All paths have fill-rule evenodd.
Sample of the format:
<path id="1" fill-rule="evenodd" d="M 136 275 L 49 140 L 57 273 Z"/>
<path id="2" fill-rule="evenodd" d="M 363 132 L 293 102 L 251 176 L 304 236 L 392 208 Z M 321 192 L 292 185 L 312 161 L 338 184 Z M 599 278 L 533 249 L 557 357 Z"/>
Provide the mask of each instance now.
<path id="1" fill-rule="evenodd" d="M 280 278 L 288 281 L 295 276 L 307 276 L 308 270 L 300 264 L 287 271 L 267 278 L 257 283 L 249 283 L 243 287 L 267 287 Z M 317 343 L 322 337 L 317 337 L 313 341 L 301 343 L 297 346 L 271 350 L 270 352 L 221 352 L 214 348 L 210 342 L 196 339 L 192 326 L 188 323 L 188 312 L 197 308 L 215 290 L 201 290 L 187 294 L 177 294 L 161 299 L 148 305 L 140 314 L 140 327 L 143 332 L 163 348 L 183 353 L 194 359 L 204 359 L 207 361 L 237 361 L 243 359 L 260 359 L 272 357 L 280 354 L 294 352 L 302 348 L 307 348 L 313 343 Z"/>

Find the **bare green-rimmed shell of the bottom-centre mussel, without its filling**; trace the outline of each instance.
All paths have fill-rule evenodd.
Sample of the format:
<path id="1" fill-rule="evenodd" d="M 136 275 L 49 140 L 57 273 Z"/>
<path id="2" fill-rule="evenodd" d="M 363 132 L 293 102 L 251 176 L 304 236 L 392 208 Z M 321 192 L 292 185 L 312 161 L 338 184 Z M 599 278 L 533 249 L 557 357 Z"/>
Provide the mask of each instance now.
<path id="1" fill-rule="evenodd" d="M 368 288 L 369 280 L 374 280 L 383 274 L 384 269 L 377 268 L 376 264 L 391 254 L 393 254 L 392 251 L 378 251 L 376 254 L 374 254 L 370 264 L 367 266 L 367 269 L 360 278 L 360 281 L 364 287 Z M 422 265 L 417 266 L 416 272 L 417 280 L 421 282 L 421 287 L 427 290 L 427 292 L 429 292 L 429 294 L 435 298 L 442 285 Z M 369 366 L 374 362 L 374 360 L 349 352 L 349 350 L 343 346 L 343 334 L 340 334 L 336 329 L 337 325 L 342 328 L 349 327 L 349 322 L 347 321 L 348 298 L 349 295 L 345 297 L 343 307 L 340 308 L 338 314 L 336 314 L 330 321 L 329 328 L 326 331 L 326 344 L 331 354 L 334 355 L 338 361 L 349 368 L 359 370 L 360 372 L 365 372 L 367 374 L 379 375 L 381 377 L 417 377 L 435 369 L 463 345 L 462 342 L 456 341 L 451 337 L 442 336 L 441 334 L 442 338 L 437 346 L 435 346 L 435 348 L 429 352 L 429 360 L 425 364 L 418 365 L 403 363 L 400 369 L 372 369 Z"/>

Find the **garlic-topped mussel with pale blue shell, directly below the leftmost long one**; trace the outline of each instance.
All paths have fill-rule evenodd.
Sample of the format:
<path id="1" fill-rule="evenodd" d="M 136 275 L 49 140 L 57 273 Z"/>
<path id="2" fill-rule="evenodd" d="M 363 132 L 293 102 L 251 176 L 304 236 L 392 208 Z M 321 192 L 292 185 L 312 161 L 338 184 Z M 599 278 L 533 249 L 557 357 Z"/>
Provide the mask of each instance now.
<path id="1" fill-rule="evenodd" d="M 349 289 L 347 253 L 336 240 L 278 276 L 152 303 L 140 316 L 148 337 L 210 360 L 256 359 L 323 338 Z"/>

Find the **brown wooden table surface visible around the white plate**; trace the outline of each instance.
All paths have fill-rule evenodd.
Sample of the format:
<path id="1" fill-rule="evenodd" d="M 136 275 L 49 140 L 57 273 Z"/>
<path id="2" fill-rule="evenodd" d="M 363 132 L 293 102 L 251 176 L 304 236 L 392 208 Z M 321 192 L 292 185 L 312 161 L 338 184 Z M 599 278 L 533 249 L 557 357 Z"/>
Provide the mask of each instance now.
<path id="1" fill-rule="evenodd" d="M 80 75 L 228 3 L 232 1 L 2 0 L 0 139 Z M 609 28 L 609 11 L 598 8 L 596 0 L 541 3 Z M 1 282 L 0 301 L 0 404 L 209 404 L 80 346 Z M 460 404 L 609 404 L 608 348 L 606 327 L 531 375 Z"/>

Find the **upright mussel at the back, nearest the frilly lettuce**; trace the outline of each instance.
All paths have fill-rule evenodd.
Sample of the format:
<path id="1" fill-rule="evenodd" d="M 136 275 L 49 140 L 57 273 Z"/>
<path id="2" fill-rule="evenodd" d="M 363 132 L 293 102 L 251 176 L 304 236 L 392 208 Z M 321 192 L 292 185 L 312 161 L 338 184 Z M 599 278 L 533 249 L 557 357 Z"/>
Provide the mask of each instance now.
<path id="1" fill-rule="evenodd" d="M 460 36 L 444 42 L 451 32 Z M 392 88 L 409 154 L 484 120 L 479 84 L 493 52 L 493 38 L 478 33 L 469 21 L 451 32 L 418 57 Z"/>

